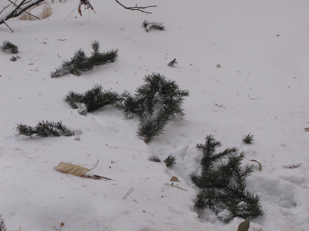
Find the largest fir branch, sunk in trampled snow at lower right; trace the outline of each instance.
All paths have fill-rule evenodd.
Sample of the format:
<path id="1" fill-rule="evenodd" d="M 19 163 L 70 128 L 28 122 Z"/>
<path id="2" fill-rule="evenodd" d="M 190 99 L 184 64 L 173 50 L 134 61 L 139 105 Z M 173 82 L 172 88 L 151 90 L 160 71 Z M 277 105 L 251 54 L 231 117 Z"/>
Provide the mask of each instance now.
<path id="1" fill-rule="evenodd" d="M 246 220 L 262 218 L 264 212 L 259 197 L 245 189 L 246 177 L 254 168 L 248 164 L 241 166 L 245 153 L 239 152 L 238 148 L 226 148 L 215 153 L 221 142 L 210 135 L 205 140 L 205 144 L 196 144 L 197 150 L 203 154 L 200 175 L 190 175 L 193 183 L 200 188 L 196 208 L 200 212 L 212 209 L 225 223 L 234 217 Z"/>

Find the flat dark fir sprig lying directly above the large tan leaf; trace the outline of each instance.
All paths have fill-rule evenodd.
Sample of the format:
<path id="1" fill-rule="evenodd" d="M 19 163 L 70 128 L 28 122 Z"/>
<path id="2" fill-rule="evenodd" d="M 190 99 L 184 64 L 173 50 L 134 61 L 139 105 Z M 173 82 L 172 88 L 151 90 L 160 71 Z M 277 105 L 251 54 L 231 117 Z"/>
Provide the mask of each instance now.
<path id="1" fill-rule="evenodd" d="M 62 124 L 61 121 L 40 121 L 35 127 L 31 127 L 24 124 L 17 124 L 16 131 L 19 133 L 18 135 L 24 136 L 40 136 L 40 137 L 48 137 L 48 136 L 74 136 L 74 132 L 71 132 L 66 128 L 65 125 Z"/>

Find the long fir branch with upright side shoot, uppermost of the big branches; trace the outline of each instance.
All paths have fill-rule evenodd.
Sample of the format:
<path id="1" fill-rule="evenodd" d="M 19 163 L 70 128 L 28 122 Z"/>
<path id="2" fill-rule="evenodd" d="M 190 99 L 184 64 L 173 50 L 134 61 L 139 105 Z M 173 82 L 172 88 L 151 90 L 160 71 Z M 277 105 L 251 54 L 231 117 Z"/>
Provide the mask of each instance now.
<path id="1" fill-rule="evenodd" d="M 118 49 L 107 51 L 107 52 L 99 52 L 100 45 L 98 41 L 92 41 L 91 48 L 93 51 L 91 52 L 91 56 L 88 57 L 82 49 L 79 49 L 75 52 L 73 58 L 70 61 L 63 61 L 62 66 L 56 71 L 51 72 L 51 77 L 58 77 L 61 75 L 73 74 L 73 75 L 81 75 L 84 71 L 91 71 L 95 66 L 103 65 L 104 63 L 112 63 L 115 62 L 118 58 Z"/>

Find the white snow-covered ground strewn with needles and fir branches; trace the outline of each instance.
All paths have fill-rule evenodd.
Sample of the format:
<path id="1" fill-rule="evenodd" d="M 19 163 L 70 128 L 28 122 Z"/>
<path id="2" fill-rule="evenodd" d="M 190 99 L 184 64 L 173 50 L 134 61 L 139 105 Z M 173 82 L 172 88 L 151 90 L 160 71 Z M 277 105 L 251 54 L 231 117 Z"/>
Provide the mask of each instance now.
<path id="1" fill-rule="evenodd" d="M 0 213 L 7 230 L 237 230 L 242 219 L 225 225 L 213 211 L 198 217 L 193 208 L 198 188 L 189 175 L 201 159 L 195 144 L 209 134 L 222 142 L 218 151 L 239 147 L 247 153 L 243 163 L 256 166 L 247 189 L 260 196 L 265 217 L 250 231 L 309 230 L 308 1 L 120 2 L 157 7 L 145 14 L 113 0 L 91 1 L 96 13 L 82 7 L 80 17 L 78 0 L 55 1 L 49 18 L 9 19 L 14 33 L 0 26 L 0 42 L 19 46 L 21 57 L 12 62 L 12 54 L 0 53 Z M 146 33 L 144 20 L 163 22 L 166 30 Z M 118 60 L 50 78 L 78 49 L 90 55 L 94 40 L 101 52 L 119 49 Z M 174 58 L 178 65 L 168 67 Z M 184 120 L 171 121 L 147 144 L 136 134 L 138 118 L 125 120 L 113 107 L 83 116 L 63 100 L 95 84 L 134 93 L 151 72 L 190 96 Z M 61 120 L 80 140 L 17 135 L 16 124 L 40 120 Z M 252 144 L 242 141 L 248 133 Z M 174 168 L 163 162 L 170 154 L 178 158 Z M 112 180 L 53 169 L 62 161 L 90 169 L 97 160 L 89 175 Z M 294 163 L 300 165 L 283 167 Z M 186 191 L 165 185 L 172 176 Z"/>

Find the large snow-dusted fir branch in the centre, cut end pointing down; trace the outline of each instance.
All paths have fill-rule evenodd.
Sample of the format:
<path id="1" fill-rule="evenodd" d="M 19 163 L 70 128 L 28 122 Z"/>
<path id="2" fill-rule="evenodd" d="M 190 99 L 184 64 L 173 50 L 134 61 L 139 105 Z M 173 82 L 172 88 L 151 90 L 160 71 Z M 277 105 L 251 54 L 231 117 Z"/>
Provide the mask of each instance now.
<path id="1" fill-rule="evenodd" d="M 147 142 L 153 136 L 162 134 L 173 117 L 179 120 L 184 117 L 182 104 L 189 92 L 181 90 L 175 81 L 167 80 L 159 73 L 146 75 L 144 80 L 146 83 L 138 87 L 133 96 L 125 91 L 114 106 L 123 111 L 127 119 L 134 114 L 139 116 L 137 133 Z"/>

